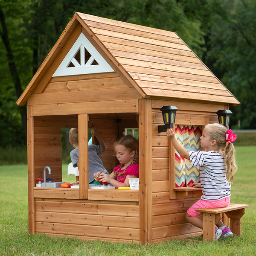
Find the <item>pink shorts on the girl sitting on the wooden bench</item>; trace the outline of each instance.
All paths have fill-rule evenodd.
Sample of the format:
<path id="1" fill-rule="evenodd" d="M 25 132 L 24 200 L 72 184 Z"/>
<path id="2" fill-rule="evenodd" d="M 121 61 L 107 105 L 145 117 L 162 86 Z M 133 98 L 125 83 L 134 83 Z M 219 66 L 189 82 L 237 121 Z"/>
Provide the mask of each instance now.
<path id="1" fill-rule="evenodd" d="M 192 207 L 189 207 L 189 209 L 187 210 L 187 213 L 190 216 L 200 217 L 200 212 L 196 212 L 195 211 L 196 209 L 200 209 L 200 208 L 221 208 L 221 207 L 228 206 L 229 204 L 230 204 L 230 196 L 227 197 L 227 198 L 222 198 L 222 199 L 217 200 L 217 201 L 206 201 L 206 200 L 200 199 L 195 204 L 193 204 Z"/>

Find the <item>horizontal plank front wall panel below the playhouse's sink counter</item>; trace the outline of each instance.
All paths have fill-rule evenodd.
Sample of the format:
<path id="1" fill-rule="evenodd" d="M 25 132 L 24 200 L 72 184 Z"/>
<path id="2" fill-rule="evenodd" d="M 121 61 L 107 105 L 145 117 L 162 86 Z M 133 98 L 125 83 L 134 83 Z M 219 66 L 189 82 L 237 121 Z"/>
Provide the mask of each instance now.
<path id="1" fill-rule="evenodd" d="M 35 200 L 35 232 L 139 242 L 139 205 L 38 198 Z"/>

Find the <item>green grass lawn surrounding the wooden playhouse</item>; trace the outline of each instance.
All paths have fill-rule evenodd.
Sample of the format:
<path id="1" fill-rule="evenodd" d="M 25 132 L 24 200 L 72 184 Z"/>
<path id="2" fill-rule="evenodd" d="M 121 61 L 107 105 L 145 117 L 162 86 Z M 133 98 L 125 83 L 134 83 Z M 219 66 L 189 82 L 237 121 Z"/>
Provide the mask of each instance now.
<path id="1" fill-rule="evenodd" d="M 256 146 L 237 146 L 238 171 L 232 203 L 250 204 L 242 217 L 242 236 L 215 242 L 172 240 L 159 244 L 112 243 L 28 233 L 27 166 L 0 166 L 0 255 L 3 256 L 255 256 Z M 67 169 L 67 165 L 63 166 Z M 63 177 L 74 182 L 74 175 Z"/>

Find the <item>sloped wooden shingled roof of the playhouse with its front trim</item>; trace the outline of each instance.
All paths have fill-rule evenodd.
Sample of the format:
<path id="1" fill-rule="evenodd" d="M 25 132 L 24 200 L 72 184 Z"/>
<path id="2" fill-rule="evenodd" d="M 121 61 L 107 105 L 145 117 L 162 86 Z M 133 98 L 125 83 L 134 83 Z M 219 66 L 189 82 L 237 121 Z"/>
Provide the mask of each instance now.
<path id="1" fill-rule="evenodd" d="M 122 73 L 145 98 L 166 97 L 239 105 L 239 101 L 175 33 L 107 18 L 76 13 L 45 59 L 60 51 L 61 41 L 76 24 L 96 48 L 102 49 L 113 70 Z M 84 30 L 83 30 L 84 29 Z M 44 61 L 44 62 L 45 62 Z M 42 64 L 38 73 L 46 64 Z M 38 73 L 35 76 L 38 76 Z M 36 77 L 17 104 L 26 103 Z"/>

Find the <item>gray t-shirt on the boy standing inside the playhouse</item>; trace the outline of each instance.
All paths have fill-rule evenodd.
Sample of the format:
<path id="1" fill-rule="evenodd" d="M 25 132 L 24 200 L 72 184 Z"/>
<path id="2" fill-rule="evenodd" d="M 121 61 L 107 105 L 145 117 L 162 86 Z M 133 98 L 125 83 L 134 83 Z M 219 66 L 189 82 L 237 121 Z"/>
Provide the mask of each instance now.
<path id="1" fill-rule="evenodd" d="M 77 163 L 79 163 L 79 151 L 78 148 L 73 149 L 70 152 L 71 161 L 73 163 L 73 167 L 77 167 Z M 89 145 L 88 146 L 88 156 L 89 156 L 89 183 L 94 180 L 93 173 L 95 172 L 104 172 L 108 173 L 108 171 L 103 166 L 102 160 L 99 158 L 98 154 L 102 153 L 101 145 Z"/>

